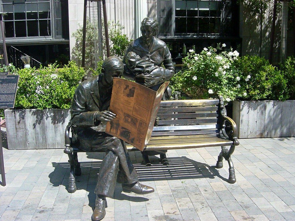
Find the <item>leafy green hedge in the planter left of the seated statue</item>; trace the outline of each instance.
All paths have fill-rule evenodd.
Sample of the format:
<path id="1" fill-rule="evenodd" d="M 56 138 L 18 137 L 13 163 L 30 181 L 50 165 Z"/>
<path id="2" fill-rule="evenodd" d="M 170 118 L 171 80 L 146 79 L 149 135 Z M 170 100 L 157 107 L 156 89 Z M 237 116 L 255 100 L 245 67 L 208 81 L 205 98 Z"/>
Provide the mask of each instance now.
<path id="1" fill-rule="evenodd" d="M 18 69 L 19 85 L 15 100 L 17 109 L 69 108 L 71 99 L 80 80 L 84 76 L 82 67 L 71 61 L 65 67 Z"/>

